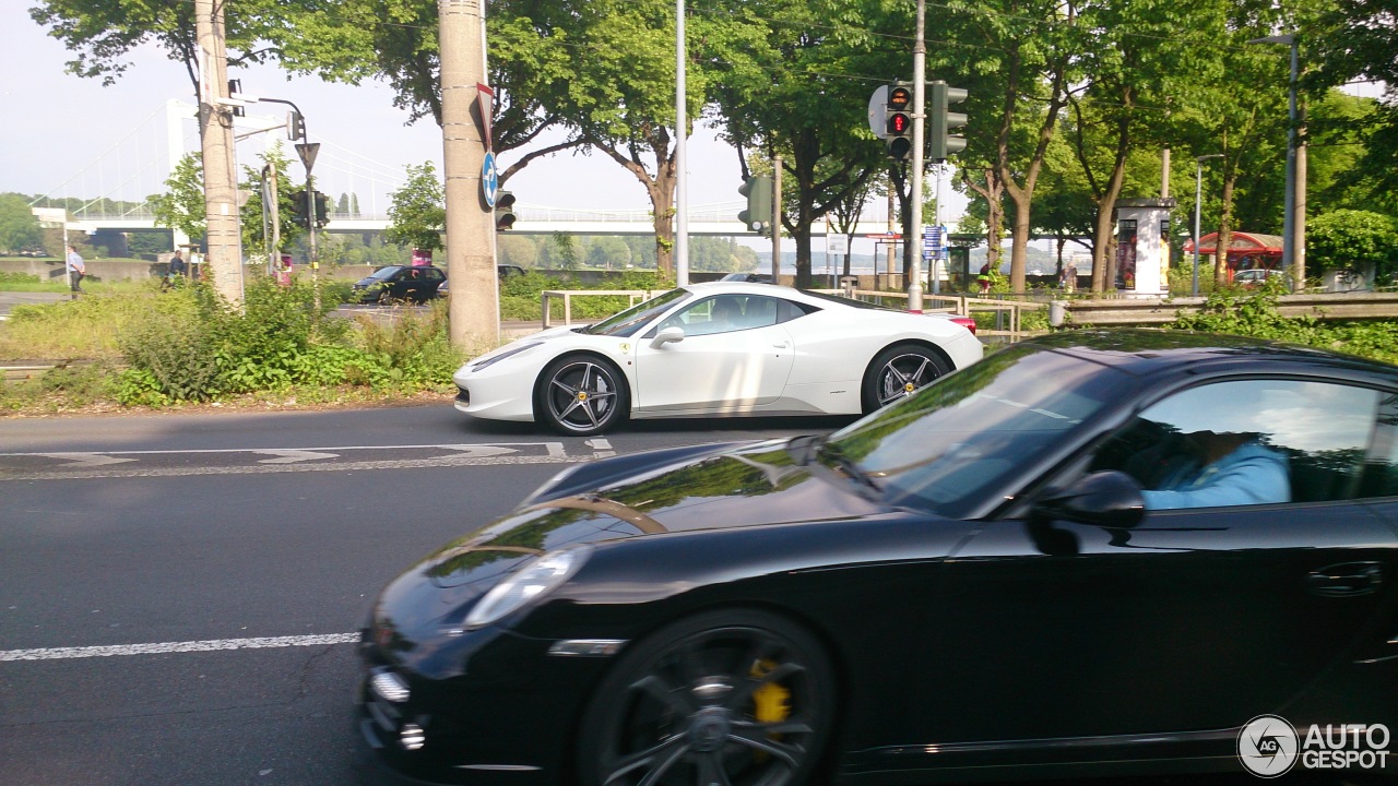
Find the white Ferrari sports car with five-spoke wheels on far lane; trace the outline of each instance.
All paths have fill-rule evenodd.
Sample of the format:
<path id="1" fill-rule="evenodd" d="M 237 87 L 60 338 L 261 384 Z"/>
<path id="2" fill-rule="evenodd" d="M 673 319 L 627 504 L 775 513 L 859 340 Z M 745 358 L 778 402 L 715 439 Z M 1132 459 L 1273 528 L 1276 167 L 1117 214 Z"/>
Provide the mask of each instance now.
<path id="1" fill-rule="evenodd" d="M 456 408 L 568 435 L 628 417 L 871 413 L 979 361 L 973 329 L 772 284 L 691 284 L 470 361 Z"/>

